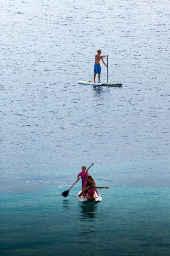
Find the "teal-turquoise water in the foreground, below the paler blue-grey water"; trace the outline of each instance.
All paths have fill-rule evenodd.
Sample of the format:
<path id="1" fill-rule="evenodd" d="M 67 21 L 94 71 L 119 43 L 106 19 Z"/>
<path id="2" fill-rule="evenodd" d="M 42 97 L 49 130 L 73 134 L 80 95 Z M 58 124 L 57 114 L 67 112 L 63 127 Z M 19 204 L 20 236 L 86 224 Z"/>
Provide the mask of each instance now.
<path id="1" fill-rule="evenodd" d="M 1 255 L 168 256 L 170 189 L 105 184 L 98 204 L 80 203 L 79 186 L 2 194 Z"/>

